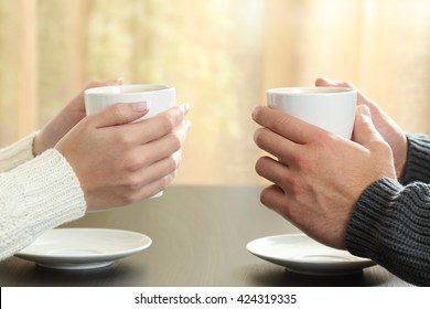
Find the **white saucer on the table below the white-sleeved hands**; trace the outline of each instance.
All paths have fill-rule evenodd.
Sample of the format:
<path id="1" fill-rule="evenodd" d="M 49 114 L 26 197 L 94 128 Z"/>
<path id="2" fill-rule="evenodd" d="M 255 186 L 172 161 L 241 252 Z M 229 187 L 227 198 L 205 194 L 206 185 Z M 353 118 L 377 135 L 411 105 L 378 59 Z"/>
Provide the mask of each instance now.
<path id="1" fill-rule="evenodd" d="M 105 228 L 55 228 L 43 233 L 15 254 L 37 265 L 57 269 L 105 267 L 148 248 L 150 237 L 136 232 Z"/>

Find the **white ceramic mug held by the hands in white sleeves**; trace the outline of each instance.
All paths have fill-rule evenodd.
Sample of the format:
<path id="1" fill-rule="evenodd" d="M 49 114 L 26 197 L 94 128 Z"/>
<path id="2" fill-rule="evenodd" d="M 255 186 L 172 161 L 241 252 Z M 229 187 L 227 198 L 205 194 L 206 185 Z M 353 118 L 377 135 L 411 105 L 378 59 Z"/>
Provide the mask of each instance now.
<path id="1" fill-rule="evenodd" d="M 175 105 L 175 88 L 168 85 L 118 85 L 86 89 L 84 93 L 87 115 L 96 114 L 117 103 L 147 102 L 149 111 L 133 122 L 138 122 L 160 114 Z M 158 198 L 163 191 L 151 198 Z"/>

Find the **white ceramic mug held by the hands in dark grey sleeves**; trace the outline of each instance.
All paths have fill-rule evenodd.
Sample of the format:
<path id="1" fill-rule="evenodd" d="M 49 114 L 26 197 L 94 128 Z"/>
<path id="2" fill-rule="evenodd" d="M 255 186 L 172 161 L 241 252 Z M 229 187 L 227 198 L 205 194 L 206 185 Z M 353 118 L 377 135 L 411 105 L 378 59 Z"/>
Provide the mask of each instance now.
<path id="1" fill-rule="evenodd" d="M 286 87 L 267 92 L 267 105 L 351 139 L 357 90 L 346 87 Z"/>

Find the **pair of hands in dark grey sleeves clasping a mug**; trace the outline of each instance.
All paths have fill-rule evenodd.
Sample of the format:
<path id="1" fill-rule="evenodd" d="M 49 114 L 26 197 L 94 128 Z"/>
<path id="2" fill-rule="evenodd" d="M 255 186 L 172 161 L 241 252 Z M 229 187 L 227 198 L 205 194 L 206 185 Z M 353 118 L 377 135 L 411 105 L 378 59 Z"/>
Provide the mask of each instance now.
<path id="1" fill-rule="evenodd" d="M 318 79 L 316 86 L 354 87 L 327 79 Z M 261 203 L 336 248 L 345 248 L 347 223 L 362 192 L 405 170 L 405 134 L 361 92 L 357 104 L 352 140 L 281 110 L 252 111 L 262 127 L 255 142 L 275 157 L 256 163 L 257 173 L 273 183 L 261 192 Z"/>

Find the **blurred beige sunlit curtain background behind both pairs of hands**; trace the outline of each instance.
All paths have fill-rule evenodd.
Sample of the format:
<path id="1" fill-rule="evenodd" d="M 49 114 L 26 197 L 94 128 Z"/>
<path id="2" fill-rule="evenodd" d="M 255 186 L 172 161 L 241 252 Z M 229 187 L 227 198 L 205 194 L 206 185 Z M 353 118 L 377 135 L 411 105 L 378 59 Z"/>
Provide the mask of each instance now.
<path id="1" fill-rule="evenodd" d="M 430 132 L 429 15 L 426 0 L 0 0 L 0 146 L 115 77 L 192 105 L 176 184 L 260 182 L 252 107 L 320 76 Z"/>

